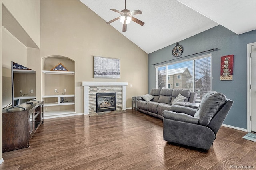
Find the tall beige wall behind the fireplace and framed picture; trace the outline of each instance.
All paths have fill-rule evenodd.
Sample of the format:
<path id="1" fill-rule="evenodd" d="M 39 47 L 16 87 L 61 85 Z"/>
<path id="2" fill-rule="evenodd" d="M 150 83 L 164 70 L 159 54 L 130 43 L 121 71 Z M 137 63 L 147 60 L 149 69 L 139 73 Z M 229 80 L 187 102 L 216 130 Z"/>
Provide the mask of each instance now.
<path id="1" fill-rule="evenodd" d="M 74 60 L 76 113 L 84 111 L 82 81 L 128 82 L 127 107 L 148 93 L 148 55 L 105 22 L 80 1 L 41 1 L 40 57 Z M 120 79 L 93 78 L 94 55 L 120 59 Z"/>

